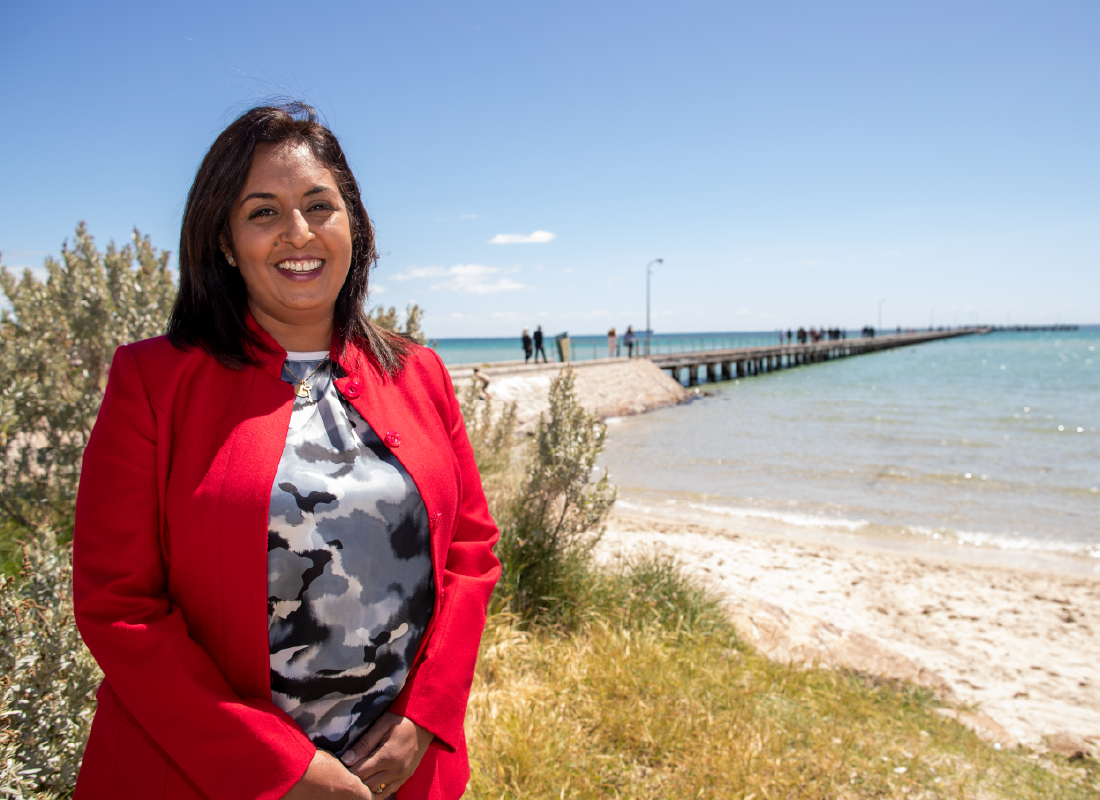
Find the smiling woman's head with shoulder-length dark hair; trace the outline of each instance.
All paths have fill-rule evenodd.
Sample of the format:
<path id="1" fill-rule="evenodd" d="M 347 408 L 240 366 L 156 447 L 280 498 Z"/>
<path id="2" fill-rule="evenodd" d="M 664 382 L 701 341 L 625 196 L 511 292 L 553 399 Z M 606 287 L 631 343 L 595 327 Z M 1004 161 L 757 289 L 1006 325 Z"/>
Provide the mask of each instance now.
<path id="1" fill-rule="evenodd" d="M 302 262 L 327 248 L 336 250 L 319 270 L 323 280 L 295 287 L 293 272 L 306 273 L 307 284 L 322 277 Z M 245 325 L 249 313 L 278 311 L 268 321 L 294 330 L 285 325 L 290 313 L 320 330 L 327 327 L 320 310 L 327 305 L 327 325 L 341 342 L 365 342 L 394 374 L 411 346 L 371 325 L 364 310 L 376 261 L 374 226 L 332 132 L 306 106 L 252 109 L 218 136 L 188 194 L 179 234 L 179 299 L 168 338 L 240 368 L 254 363 L 250 352 L 261 343 Z M 258 281 L 254 287 L 250 277 Z M 329 302 L 322 304 L 326 292 Z M 283 303 L 293 311 L 279 311 Z"/>

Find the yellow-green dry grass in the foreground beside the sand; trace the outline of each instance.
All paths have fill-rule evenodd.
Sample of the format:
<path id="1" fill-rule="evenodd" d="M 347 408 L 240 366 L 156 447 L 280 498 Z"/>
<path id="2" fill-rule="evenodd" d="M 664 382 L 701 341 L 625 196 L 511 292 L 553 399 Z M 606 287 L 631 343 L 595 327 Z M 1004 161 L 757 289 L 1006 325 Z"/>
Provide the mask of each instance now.
<path id="1" fill-rule="evenodd" d="M 590 604 L 570 632 L 491 621 L 466 723 L 472 797 L 1037 799 L 1100 789 L 1091 759 L 996 750 L 935 713 L 930 690 L 771 661 L 671 560 L 642 567 L 641 581 L 630 568 L 612 573 L 640 591 Z M 685 604 L 690 624 L 671 613 Z"/>

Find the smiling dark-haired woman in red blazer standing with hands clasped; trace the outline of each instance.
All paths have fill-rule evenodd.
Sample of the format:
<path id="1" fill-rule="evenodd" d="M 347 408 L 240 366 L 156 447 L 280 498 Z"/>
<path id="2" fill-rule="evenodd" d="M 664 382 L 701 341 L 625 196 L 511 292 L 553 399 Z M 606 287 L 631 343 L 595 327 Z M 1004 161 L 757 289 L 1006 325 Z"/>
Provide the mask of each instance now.
<path id="1" fill-rule="evenodd" d="M 168 335 L 116 352 L 85 451 L 79 800 L 464 791 L 497 531 L 442 362 L 367 318 L 375 260 L 310 109 L 218 136 Z"/>

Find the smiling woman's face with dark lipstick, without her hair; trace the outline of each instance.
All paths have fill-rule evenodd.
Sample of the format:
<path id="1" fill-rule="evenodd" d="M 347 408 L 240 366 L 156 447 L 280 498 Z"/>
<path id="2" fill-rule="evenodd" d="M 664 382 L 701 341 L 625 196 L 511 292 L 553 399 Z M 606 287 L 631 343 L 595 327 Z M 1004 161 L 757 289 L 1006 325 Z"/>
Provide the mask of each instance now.
<path id="1" fill-rule="evenodd" d="M 336 178 L 308 146 L 256 146 L 229 229 L 262 326 L 331 320 L 351 266 L 351 222 Z"/>

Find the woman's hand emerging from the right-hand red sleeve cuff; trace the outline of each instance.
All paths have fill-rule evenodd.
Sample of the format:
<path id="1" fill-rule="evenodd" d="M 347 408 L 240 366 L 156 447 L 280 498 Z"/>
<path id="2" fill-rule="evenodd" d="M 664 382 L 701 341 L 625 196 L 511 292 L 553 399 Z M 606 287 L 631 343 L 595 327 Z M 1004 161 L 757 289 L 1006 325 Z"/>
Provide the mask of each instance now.
<path id="1" fill-rule="evenodd" d="M 341 760 L 374 792 L 376 800 L 382 800 L 397 791 L 416 771 L 433 738 L 435 734 L 408 717 L 387 711 L 341 756 Z M 383 787 L 381 791 L 380 786 Z"/>

